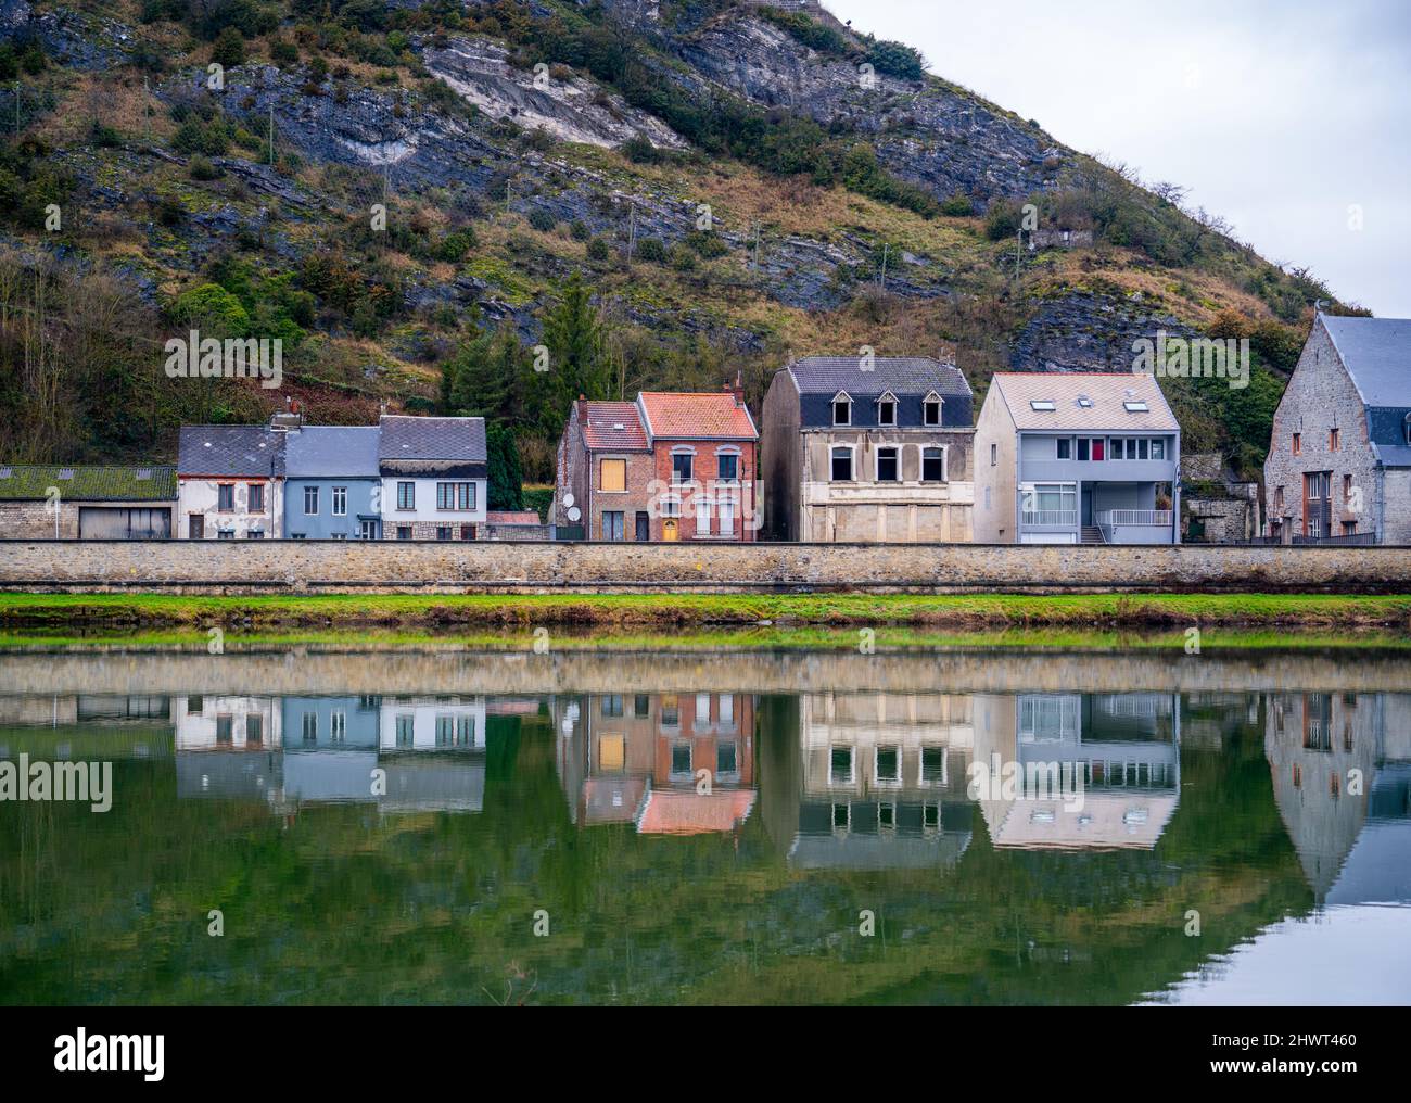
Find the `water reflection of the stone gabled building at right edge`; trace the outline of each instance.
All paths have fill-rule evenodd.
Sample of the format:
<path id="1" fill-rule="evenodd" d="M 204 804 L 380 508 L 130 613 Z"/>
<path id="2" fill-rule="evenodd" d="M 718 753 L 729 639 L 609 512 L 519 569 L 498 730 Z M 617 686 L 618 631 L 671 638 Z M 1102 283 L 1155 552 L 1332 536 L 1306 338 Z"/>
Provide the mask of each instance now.
<path id="1" fill-rule="evenodd" d="M 1318 903 L 1411 901 L 1411 697 L 1271 694 L 1264 753 Z"/>

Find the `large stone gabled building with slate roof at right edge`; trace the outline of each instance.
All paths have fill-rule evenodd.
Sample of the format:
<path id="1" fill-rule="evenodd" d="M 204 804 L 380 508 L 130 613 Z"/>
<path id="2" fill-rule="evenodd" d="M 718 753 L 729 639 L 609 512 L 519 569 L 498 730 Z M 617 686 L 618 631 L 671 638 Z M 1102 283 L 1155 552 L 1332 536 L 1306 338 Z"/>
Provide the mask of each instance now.
<path id="1" fill-rule="evenodd" d="M 1319 313 L 1274 412 L 1264 533 L 1411 544 L 1411 320 Z"/>

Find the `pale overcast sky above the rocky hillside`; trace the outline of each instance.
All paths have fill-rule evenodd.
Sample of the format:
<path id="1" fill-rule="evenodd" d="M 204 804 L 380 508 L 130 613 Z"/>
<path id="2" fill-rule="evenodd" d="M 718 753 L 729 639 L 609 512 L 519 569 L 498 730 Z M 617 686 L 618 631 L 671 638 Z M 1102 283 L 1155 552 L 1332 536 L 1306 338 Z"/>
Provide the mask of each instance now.
<path id="1" fill-rule="evenodd" d="M 1411 317 L 1407 0 L 824 6 L 1068 147 L 1189 188 L 1345 302 Z"/>

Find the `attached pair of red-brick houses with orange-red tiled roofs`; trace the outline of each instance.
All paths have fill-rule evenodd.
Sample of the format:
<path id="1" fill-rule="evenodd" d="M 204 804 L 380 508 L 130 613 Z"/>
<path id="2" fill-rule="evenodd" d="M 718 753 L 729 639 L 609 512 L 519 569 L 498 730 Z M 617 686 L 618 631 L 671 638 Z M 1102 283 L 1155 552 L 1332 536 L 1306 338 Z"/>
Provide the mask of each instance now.
<path id="1" fill-rule="evenodd" d="M 553 519 L 588 540 L 753 540 L 753 418 L 738 388 L 573 405 Z"/>

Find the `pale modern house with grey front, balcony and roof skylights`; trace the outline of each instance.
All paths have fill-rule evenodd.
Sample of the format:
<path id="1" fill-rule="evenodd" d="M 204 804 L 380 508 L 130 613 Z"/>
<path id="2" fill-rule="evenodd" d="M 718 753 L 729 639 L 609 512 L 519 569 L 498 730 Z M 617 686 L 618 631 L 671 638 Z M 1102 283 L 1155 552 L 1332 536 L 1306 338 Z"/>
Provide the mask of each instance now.
<path id="1" fill-rule="evenodd" d="M 975 426 L 975 542 L 1180 543 L 1180 473 L 1154 377 L 996 372 Z"/>

